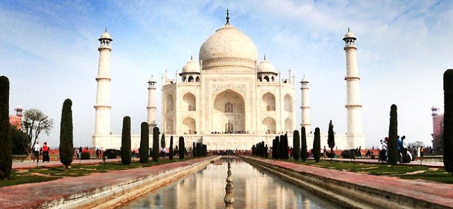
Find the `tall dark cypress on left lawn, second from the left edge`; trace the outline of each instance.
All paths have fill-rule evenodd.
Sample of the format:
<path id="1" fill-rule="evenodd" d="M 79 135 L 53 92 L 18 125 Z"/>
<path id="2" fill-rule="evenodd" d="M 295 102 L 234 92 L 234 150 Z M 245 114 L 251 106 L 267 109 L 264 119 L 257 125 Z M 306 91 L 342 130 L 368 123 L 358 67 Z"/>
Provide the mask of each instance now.
<path id="1" fill-rule="evenodd" d="M 72 101 L 66 99 L 61 109 L 60 123 L 60 162 L 65 165 L 65 170 L 69 169 L 74 155 L 74 146 L 72 143 Z"/>

